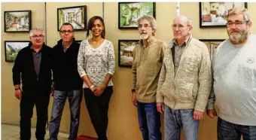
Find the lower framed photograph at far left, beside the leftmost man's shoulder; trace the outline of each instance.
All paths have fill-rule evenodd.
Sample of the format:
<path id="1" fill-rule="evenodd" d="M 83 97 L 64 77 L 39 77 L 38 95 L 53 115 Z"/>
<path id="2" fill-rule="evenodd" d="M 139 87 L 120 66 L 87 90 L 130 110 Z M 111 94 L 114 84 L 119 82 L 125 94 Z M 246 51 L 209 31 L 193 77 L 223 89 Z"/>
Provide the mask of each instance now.
<path id="1" fill-rule="evenodd" d="M 14 62 L 19 51 L 27 46 L 29 41 L 5 41 L 5 62 Z"/>

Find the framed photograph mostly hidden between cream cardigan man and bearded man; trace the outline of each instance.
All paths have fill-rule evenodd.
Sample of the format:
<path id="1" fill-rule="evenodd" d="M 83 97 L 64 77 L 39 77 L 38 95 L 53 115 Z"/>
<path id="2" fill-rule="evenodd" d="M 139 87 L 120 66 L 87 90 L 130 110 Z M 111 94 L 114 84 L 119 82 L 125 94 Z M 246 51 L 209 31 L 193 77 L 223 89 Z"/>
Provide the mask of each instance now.
<path id="1" fill-rule="evenodd" d="M 208 47 L 211 60 L 212 60 L 213 54 L 215 53 L 215 49 L 224 40 L 225 39 L 200 39 L 200 41 L 202 41 Z"/>

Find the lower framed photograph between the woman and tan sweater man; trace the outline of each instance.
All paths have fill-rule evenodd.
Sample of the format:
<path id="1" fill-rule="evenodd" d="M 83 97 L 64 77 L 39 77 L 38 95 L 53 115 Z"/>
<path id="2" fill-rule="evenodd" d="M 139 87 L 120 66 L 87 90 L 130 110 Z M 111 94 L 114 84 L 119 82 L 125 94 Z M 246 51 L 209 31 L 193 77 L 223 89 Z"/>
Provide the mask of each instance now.
<path id="1" fill-rule="evenodd" d="M 118 65 L 120 67 L 133 66 L 133 49 L 139 40 L 118 40 Z"/>

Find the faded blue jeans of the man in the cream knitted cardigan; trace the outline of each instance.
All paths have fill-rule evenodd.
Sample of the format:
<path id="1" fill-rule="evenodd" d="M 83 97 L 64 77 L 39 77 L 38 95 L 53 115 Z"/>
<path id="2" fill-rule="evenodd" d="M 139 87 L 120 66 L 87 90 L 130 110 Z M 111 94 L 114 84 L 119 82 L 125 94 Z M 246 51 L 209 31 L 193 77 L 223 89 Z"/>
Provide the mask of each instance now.
<path id="1" fill-rule="evenodd" d="M 164 135 L 165 140 L 180 140 L 181 129 L 184 130 L 186 140 L 197 140 L 199 120 L 194 120 L 194 109 L 172 110 L 164 107 Z"/>

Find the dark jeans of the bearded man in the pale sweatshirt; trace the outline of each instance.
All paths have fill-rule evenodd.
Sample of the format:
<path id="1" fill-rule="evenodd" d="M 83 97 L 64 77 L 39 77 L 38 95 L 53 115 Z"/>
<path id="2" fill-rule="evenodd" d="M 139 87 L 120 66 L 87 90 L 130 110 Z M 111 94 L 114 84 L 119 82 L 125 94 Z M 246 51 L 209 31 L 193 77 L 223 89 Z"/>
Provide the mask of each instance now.
<path id="1" fill-rule="evenodd" d="M 255 120 L 256 121 L 256 120 Z M 256 126 L 243 126 L 218 117 L 218 140 L 256 140 Z"/>

